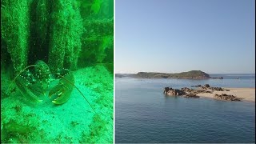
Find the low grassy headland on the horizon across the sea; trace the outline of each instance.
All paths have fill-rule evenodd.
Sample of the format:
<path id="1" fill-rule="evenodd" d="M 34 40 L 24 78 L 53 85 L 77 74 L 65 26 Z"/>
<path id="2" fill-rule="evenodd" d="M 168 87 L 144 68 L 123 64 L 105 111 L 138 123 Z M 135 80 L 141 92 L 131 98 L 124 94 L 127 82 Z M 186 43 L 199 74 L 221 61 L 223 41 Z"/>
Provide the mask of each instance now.
<path id="1" fill-rule="evenodd" d="M 157 72 L 138 72 L 137 74 L 116 74 L 118 78 L 133 77 L 133 78 L 180 78 L 180 79 L 208 79 L 209 74 L 201 70 L 190 70 L 182 73 L 157 73 Z M 214 79 L 222 79 L 222 77 L 214 77 Z"/>

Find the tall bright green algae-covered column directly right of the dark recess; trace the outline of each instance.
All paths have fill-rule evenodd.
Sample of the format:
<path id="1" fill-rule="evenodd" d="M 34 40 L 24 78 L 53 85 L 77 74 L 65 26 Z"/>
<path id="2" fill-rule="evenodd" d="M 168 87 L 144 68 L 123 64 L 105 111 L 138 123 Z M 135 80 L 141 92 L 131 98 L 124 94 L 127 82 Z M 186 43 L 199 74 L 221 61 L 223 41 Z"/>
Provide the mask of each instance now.
<path id="1" fill-rule="evenodd" d="M 56 0 L 52 6 L 49 66 L 52 71 L 76 69 L 81 49 L 82 18 L 75 1 Z"/>

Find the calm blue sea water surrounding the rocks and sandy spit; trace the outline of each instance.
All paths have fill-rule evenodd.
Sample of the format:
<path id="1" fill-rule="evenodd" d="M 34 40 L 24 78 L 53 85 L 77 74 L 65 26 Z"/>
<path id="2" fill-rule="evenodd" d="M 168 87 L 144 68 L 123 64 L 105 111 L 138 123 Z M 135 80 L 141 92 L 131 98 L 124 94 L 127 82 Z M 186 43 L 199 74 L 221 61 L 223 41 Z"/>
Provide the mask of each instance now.
<path id="1" fill-rule="evenodd" d="M 255 87 L 255 75 L 222 74 L 222 77 L 222 80 L 116 78 L 115 142 L 255 142 L 254 102 L 162 94 L 165 86 L 181 88 L 208 83 Z"/>

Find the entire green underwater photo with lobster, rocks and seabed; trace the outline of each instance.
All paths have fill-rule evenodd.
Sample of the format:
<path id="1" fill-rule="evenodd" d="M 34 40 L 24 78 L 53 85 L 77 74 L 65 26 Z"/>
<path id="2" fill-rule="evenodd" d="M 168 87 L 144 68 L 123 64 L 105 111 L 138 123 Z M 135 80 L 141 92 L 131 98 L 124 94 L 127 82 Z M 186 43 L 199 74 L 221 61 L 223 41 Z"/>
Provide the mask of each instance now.
<path id="1" fill-rule="evenodd" d="M 113 143 L 114 0 L 1 0 L 1 143 Z"/>

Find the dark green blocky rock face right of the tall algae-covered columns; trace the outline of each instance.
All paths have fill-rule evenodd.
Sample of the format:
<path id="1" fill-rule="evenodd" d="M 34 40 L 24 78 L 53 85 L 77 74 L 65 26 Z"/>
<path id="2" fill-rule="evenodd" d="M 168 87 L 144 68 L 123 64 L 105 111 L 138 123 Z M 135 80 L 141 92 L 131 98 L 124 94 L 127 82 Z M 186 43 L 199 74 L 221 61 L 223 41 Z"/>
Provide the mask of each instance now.
<path id="1" fill-rule="evenodd" d="M 114 19 L 88 19 L 83 22 L 85 32 L 78 65 L 90 66 L 94 63 L 110 63 L 114 59 Z M 110 70 L 111 72 L 113 70 Z"/>

